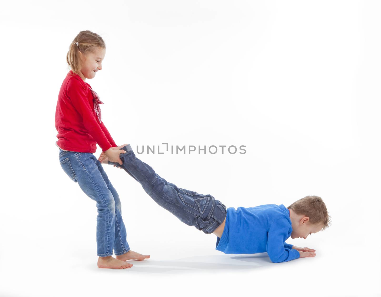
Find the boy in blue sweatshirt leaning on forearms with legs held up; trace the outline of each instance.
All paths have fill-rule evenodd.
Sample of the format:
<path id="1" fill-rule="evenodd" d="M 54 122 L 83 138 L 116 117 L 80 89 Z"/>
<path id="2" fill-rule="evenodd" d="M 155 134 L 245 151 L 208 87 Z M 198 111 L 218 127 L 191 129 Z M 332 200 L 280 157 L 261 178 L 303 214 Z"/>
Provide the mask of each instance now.
<path id="1" fill-rule="evenodd" d="M 299 257 L 314 257 L 314 249 L 299 248 L 285 243 L 291 238 L 307 238 L 324 230 L 330 224 L 325 203 L 320 197 L 307 196 L 285 207 L 283 204 L 266 204 L 256 207 L 227 208 L 212 195 L 203 195 L 168 183 L 155 171 L 136 158 L 130 145 L 123 149 L 119 162 L 110 162 L 104 152 L 101 163 L 121 167 L 141 184 L 155 202 L 178 219 L 217 235 L 216 249 L 225 254 L 264 253 L 274 263 L 287 262 Z"/>

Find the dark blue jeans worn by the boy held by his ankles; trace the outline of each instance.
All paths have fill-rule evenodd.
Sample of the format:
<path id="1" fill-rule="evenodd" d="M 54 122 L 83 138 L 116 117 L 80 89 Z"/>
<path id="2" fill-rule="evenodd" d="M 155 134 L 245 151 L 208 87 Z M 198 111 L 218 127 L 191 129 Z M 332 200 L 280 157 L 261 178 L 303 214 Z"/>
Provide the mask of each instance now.
<path id="1" fill-rule="evenodd" d="M 144 191 L 160 206 L 174 214 L 188 226 L 194 226 L 204 233 L 213 233 L 226 218 L 226 206 L 212 195 L 203 195 L 168 183 L 149 165 L 139 160 L 130 145 L 123 146 L 126 152 L 120 154 L 123 164 L 110 162 L 122 167 Z"/>

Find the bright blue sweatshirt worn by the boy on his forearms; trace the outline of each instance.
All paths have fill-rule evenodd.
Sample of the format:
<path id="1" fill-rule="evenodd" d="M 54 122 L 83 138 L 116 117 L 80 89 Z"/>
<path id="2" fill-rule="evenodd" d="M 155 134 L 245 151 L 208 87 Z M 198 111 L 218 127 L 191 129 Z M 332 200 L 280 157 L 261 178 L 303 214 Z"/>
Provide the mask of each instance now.
<path id="1" fill-rule="evenodd" d="M 225 254 L 264 253 L 271 262 L 298 259 L 299 252 L 285 243 L 292 232 L 290 210 L 283 204 L 227 208 L 224 232 L 217 237 L 216 250 Z"/>

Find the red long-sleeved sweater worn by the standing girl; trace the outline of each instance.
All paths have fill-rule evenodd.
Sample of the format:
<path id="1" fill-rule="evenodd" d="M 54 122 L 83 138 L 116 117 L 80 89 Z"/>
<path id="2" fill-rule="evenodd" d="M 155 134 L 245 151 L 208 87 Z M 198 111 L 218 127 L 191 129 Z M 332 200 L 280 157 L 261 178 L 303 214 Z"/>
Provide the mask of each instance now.
<path id="1" fill-rule="evenodd" d="M 117 146 L 103 121 L 99 124 L 97 120 L 88 86 L 90 84 L 70 70 L 59 90 L 56 144 L 66 151 L 94 153 L 97 143 L 102 151 Z"/>

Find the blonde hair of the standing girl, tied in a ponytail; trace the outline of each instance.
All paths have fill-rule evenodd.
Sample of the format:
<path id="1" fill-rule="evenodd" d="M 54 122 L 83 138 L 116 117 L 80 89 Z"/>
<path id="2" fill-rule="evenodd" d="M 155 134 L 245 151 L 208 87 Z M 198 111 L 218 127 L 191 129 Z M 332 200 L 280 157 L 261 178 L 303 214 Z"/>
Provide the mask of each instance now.
<path id="1" fill-rule="evenodd" d="M 106 48 L 106 44 L 101 36 L 89 30 L 79 32 L 72 44 L 70 44 L 66 55 L 68 67 L 78 74 L 81 68 L 79 52 L 82 52 L 86 56 L 88 53 L 94 53 L 97 48 Z"/>

